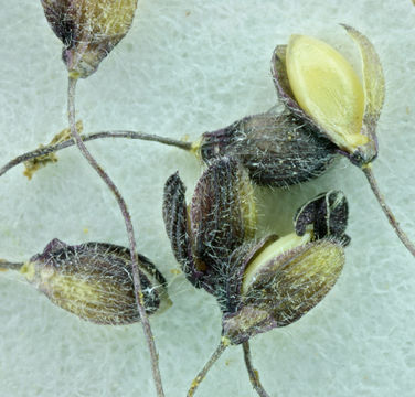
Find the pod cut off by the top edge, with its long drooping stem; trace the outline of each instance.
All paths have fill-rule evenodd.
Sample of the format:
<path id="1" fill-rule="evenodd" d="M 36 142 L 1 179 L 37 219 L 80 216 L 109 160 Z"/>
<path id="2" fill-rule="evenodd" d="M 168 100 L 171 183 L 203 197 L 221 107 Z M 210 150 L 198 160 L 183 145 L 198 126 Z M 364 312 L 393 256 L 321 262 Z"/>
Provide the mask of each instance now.
<path id="1" fill-rule="evenodd" d="M 150 351 L 157 395 L 163 397 L 158 353 L 145 310 L 131 216 L 118 187 L 89 153 L 75 124 L 76 82 L 79 77 L 85 78 L 94 73 L 100 61 L 127 34 L 134 19 L 137 0 L 42 0 L 42 6 L 52 30 L 65 46 L 63 61 L 68 71 L 67 115 L 72 137 L 81 153 L 114 194 L 125 221 L 131 255 L 136 303 Z"/>

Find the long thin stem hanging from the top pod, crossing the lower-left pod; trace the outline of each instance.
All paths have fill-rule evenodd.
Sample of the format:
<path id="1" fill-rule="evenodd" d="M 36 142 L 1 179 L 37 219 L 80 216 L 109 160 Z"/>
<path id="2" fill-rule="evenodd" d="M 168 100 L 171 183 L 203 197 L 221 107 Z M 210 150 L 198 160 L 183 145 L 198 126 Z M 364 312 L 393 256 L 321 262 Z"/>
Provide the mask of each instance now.
<path id="1" fill-rule="evenodd" d="M 108 174 L 102 169 L 102 167 L 96 162 L 96 160 L 93 158 L 93 155 L 89 153 L 89 151 L 86 149 L 79 133 L 76 130 L 75 125 L 75 88 L 76 88 L 76 78 L 73 78 L 70 76 L 68 79 L 68 89 L 67 89 L 67 111 L 68 111 L 68 120 L 70 120 L 70 127 L 71 127 L 71 133 L 74 140 L 76 141 L 76 146 L 78 147 L 82 154 L 85 157 L 85 159 L 88 161 L 88 163 L 93 167 L 93 169 L 98 173 L 98 175 L 103 179 L 103 181 L 106 183 L 106 185 L 109 187 L 109 190 L 114 193 L 115 198 L 117 200 L 118 206 L 123 213 L 123 217 L 126 224 L 128 239 L 129 239 L 129 248 L 130 248 L 130 255 L 131 255 L 131 267 L 132 267 L 132 279 L 134 279 L 134 288 L 135 288 L 135 296 L 136 296 L 136 302 L 138 312 L 140 314 L 146 341 L 148 344 L 148 348 L 150 351 L 150 357 L 151 357 L 151 369 L 152 369 L 152 377 L 155 379 L 156 389 L 157 389 L 157 396 L 163 397 L 164 391 L 162 388 L 161 383 L 161 376 L 160 376 L 160 369 L 159 369 L 159 357 L 156 350 L 155 339 L 152 336 L 151 326 L 145 310 L 145 301 L 143 301 L 143 294 L 141 290 L 141 281 L 140 276 L 138 272 L 138 257 L 137 257 L 137 249 L 136 249 L 136 238 L 134 234 L 132 223 L 131 223 L 131 216 L 128 212 L 127 204 L 124 201 L 120 192 L 118 191 L 117 186 L 114 184 L 111 179 L 108 176 Z"/>

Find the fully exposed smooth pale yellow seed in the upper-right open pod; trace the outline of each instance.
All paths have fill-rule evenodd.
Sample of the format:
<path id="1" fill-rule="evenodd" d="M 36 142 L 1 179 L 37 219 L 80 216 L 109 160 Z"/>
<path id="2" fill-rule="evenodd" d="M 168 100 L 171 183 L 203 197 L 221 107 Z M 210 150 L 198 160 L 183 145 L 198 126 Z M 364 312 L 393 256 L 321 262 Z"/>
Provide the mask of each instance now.
<path id="1" fill-rule="evenodd" d="M 292 94 L 341 149 L 353 152 L 368 142 L 360 133 L 364 92 L 350 63 L 330 45 L 292 35 L 287 47 L 287 74 Z"/>

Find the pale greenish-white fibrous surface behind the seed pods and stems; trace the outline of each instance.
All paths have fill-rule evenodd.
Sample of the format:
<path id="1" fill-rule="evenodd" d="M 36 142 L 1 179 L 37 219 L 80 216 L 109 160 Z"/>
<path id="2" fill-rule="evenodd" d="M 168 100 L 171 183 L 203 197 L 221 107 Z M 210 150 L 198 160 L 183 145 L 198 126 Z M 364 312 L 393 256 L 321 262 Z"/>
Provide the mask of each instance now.
<path id="1" fill-rule="evenodd" d="M 40 1 L 0 0 L 0 159 L 46 143 L 66 126 L 61 43 Z M 374 172 L 403 227 L 415 239 L 415 9 L 409 0 L 355 2 L 143 0 L 126 39 L 82 81 L 85 131 L 128 128 L 195 139 L 275 105 L 269 58 L 292 33 L 318 36 L 359 65 L 338 23 L 376 46 L 387 94 Z M 180 170 L 189 191 L 198 162 L 139 141 L 88 144 L 129 203 L 139 250 L 169 278 L 174 305 L 152 319 L 167 396 L 183 396 L 220 337 L 214 300 L 195 291 L 170 253 L 161 219 L 163 182 Z M 81 154 L 68 149 L 32 181 L 19 167 L 0 180 L 0 257 L 28 259 L 53 237 L 127 245 L 118 208 Z M 360 171 L 347 161 L 317 182 L 263 192 L 267 227 L 286 232 L 295 207 L 342 189 L 352 245 L 329 297 L 289 328 L 252 341 L 272 396 L 413 396 L 415 261 L 389 227 Z M 0 273 L 1 396 L 152 396 L 140 325 L 97 326 L 52 305 L 12 272 Z M 202 396 L 255 396 L 242 350 L 228 350 L 200 387 Z"/>

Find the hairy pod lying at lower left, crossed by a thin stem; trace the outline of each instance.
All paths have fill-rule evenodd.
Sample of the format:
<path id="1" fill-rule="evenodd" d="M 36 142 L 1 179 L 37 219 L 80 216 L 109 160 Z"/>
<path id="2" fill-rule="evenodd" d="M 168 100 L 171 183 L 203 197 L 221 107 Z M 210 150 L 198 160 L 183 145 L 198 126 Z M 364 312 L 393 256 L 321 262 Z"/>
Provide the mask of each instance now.
<path id="1" fill-rule="evenodd" d="M 171 305 L 166 279 L 142 255 L 138 255 L 146 312 Z M 53 239 L 42 254 L 21 268 L 25 278 L 53 303 L 97 324 L 123 325 L 140 320 L 128 248 L 85 243 L 68 246 Z"/>

